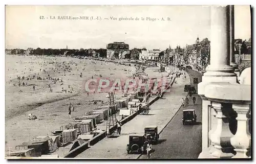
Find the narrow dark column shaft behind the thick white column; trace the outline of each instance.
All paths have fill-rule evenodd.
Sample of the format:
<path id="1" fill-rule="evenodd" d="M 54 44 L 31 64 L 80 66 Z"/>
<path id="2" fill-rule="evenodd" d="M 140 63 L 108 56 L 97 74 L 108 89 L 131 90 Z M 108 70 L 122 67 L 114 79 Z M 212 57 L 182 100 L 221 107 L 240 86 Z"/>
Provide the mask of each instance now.
<path id="1" fill-rule="evenodd" d="M 229 5 L 229 36 L 230 36 L 230 66 L 234 68 L 234 73 L 237 77 L 240 76 L 240 71 L 234 57 L 234 5 Z"/>

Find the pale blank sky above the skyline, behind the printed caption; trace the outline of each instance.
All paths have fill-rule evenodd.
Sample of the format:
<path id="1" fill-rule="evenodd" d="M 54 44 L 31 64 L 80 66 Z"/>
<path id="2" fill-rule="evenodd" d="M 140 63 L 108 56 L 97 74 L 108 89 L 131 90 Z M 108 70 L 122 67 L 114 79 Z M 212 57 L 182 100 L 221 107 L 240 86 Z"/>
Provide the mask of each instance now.
<path id="1" fill-rule="evenodd" d="M 235 6 L 235 38 L 250 37 L 250 8 Z M 40 19 L 44 16 L 45 19 Z M 55 19 L 50 19 L 50 16 Z M 91 16 L 102 20 L 60 20 Z M 111 20 L 137 17 L 139 20 Z M 141 20 L 141 17 L 159 20 Z M 167 20 L 167 17 L 170 20 Z M 109 20 L 104 19 L 109 18 Z M 161 20 L 161 19 L 164 20 Z M 165 50 L 210 40 L 209 6 L 7 6 L 6 48 L 99 49 L 123 41 L 130 49 Z"/>

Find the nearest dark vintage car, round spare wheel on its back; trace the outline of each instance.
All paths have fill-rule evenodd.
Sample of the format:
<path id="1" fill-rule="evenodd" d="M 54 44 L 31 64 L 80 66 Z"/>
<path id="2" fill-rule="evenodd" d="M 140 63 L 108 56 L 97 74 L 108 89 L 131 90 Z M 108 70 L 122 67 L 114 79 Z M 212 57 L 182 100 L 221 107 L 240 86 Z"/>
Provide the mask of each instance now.
<path id="1" fill-rule="evenodd" d="M 146 153 L 144 135 L 130 135 L 129 144 L 127 144 L 126 150 L 127 150 L 127 154 Z"/>

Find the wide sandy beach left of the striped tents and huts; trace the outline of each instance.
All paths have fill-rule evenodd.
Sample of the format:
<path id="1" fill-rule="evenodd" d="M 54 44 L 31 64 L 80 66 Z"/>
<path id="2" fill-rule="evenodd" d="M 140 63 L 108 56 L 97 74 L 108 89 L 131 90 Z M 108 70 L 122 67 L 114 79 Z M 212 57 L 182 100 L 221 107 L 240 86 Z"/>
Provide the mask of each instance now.
<path id="1" fill-rule="evenodd" d="M 51 135 L 51 131 L 100 106 L 99 103 L 92 104 L 93 100 L 108 101 L 104 92 L 89 93 L 88 96 L 84 91 L 86 80 L 100 75 L 114 80 L 131 77 L 133 73 L 133 66 L 104 61 L 6 55 L 6 149 L 15 149 L 16 145 L 29 142 L 38 135 Z M 70 103 L 75 107 L 71 119 L 68 118 Z M 29 113 L 39 120 L 28 120 Z"/>

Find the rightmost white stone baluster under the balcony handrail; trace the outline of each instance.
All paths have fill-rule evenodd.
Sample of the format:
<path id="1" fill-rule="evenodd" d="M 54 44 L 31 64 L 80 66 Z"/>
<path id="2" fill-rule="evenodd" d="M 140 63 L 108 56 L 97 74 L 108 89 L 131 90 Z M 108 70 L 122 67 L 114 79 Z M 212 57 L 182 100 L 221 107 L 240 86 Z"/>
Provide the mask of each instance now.
<path id="1" fill-rule="evenodd" d="M 249 132 L 249 105 L 248 104 L 233 104 L 232 108 L 238 113 L 237 121 L 238 128 L 236 134 L 230 139 L 231 144 L 237 152 L 232 158 L 248 158 L 250 153 L 248 149 L 251 147 L 251 135 Z M 247 154 L 248 153 L 248 154 Z"/>

